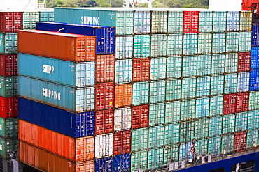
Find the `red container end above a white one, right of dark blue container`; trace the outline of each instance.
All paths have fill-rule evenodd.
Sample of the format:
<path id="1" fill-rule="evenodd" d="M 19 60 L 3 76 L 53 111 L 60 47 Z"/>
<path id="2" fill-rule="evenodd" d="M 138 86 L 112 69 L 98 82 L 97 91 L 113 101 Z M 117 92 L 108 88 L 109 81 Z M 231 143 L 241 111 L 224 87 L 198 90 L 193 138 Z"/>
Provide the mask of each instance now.
<path id="1" fill-rule="evenodd" d="M 107 134 L 113 132 L 114 111 L 96 111 L 95 114 L 95 134 Z"/>

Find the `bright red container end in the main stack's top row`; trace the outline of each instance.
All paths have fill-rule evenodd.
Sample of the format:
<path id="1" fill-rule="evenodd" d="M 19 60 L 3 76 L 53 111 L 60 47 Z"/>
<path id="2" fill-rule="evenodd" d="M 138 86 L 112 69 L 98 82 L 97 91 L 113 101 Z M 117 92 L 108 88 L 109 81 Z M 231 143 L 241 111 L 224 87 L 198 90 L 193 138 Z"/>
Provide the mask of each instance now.
<path id="1" fill-rule="evenodd" d="M 199 32 L 199 11 L 183 12 L 183 33 Z"/>

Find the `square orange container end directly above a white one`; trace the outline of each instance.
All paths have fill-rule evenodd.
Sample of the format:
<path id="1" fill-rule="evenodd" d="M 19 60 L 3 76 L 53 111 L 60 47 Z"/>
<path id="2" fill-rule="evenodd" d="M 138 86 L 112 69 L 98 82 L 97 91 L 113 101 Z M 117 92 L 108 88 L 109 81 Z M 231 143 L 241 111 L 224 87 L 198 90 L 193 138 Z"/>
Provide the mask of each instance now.
<path id="1" fill-rule="evenodd" d="M 117 84 L 115 86 L 115 107 L 130 107 L 132 105 L 132 84 Z"/>

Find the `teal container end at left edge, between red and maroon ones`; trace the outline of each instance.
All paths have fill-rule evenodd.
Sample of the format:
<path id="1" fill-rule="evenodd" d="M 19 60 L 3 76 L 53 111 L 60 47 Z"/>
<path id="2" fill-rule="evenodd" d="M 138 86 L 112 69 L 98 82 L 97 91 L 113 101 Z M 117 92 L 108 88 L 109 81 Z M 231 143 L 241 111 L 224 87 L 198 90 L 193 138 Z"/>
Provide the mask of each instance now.
<path id="1" fill-rule="evenodd" d="M 0 33 L 0 54 L 18 54 L 17 33 Z"/>

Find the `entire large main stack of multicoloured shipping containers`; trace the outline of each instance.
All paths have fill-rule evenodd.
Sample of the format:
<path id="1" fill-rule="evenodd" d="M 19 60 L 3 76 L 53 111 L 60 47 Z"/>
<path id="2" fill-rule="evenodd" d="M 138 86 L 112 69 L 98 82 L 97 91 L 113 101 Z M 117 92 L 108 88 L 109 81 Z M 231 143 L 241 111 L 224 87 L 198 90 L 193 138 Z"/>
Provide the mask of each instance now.
<path id="1" fill-rule="evenodd" d="M 33 152 L 58 157 L 64 163 L 58 166 L 69 159 L 71 171 L 174 170 L 194 155 L 205 159 L 258 144 L 252 13 L 167 10 L 55 8 L 55 22 L 37 24 L 43 31 L 20 31 L 21 162 L 43 171 L 58 168 L 29 159 Z M 89 60 L 84 44 L 77 52 L 83 61 L 71 60 L 79 49 L 72 51 L 63 37 L 92 36 L 78 32 L 82 24 L 115 27 L 115 50 L 100 54 L 99 46 L 113 41 L 98 42 L 97 36 L 96 46 L 87 48 Z M 90 58 L 94 47 L 97 55 Z M 73 76 L 58 65 L 67 61 Z M 82 63 L 94 65 L 79 68 Z M 39 141 L 57 135 L 70 139 Z"/>

